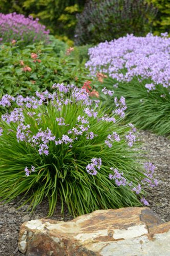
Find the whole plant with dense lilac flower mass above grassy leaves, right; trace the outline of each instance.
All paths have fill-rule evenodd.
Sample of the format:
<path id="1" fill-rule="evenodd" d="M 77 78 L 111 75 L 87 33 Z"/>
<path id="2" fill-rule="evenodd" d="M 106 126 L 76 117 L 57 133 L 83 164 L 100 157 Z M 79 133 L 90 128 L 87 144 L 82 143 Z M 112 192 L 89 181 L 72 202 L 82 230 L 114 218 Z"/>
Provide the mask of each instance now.
<path id="1" fill-rule="evenodd" d="M 102 86 L 124 95 L 128 120 L 140 129 L 169 135 L 169 52 L 166 33 L 161 37 L 127 35 L 90 49 L 86 67 L 93 76 L 107 76 Z"/>

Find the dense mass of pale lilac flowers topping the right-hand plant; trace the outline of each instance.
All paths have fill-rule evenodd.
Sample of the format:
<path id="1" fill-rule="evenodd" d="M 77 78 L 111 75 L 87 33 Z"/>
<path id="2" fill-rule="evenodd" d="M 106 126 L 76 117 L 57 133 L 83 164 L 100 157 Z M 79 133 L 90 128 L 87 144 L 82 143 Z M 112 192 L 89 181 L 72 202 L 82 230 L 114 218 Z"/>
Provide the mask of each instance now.
<path id="1" fill-rule="evenodd" d="M 118 82 L 129 82 L 134 76 L 142 81 L 150 78 L 145 87 L 155 90 L 155 85 L 170 85 L 170 38 L 167 35 L 145 37 L 127 35 L 111 42 L 100 43 L 89 49 L 91 74 L 108 74 Z M 124 72 L 122 72 L 124 70 Z"/>

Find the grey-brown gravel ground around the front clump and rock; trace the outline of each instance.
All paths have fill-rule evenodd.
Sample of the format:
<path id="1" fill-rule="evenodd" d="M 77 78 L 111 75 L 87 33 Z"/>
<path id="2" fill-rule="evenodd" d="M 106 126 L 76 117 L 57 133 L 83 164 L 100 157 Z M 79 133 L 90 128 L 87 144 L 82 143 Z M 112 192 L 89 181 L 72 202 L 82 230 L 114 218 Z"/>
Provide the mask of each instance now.
<path id="1" fill-rule="evenodd" d="M 156 173 L 159 181 L 158 187 L 148 190 L 145 197 L 153 212 L 165 221 L 170 221 L 170 140 L 151 134 L 148 131 L 140 132 L 140 138 L 144 142 L 142 149 L 147 150 L 150 161 L 157 166 Z M 19 198 L 18 198 L 19 199 Z M 2 205 L 0 203 L 0 256 L 21 256 L 17 249 L 20 225 L 24 221 L 44 218 L 47 215 L 47 204 L 44 201 L 34 213 L 27 211 L 28 205 L 17 210 L 19 202 L 15 201 Z M 55 220 L 69 220 L 67 210 L 64 218 L 60 215 L 60 206 L 51 217 Z"/>

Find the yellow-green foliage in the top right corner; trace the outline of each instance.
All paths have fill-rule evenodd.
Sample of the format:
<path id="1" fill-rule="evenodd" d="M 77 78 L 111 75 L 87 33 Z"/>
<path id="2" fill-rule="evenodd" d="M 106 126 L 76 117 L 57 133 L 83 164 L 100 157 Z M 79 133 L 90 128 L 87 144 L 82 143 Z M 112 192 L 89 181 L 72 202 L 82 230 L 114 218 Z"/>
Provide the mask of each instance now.
<path id="1" fill-rule="evenodd" d="M 160 35 L 163 32 L 170 32 L 170 1 L 169 0 L 147 0 L 153 4 L 158 13 L 153 21 L 153 32 Z"/>

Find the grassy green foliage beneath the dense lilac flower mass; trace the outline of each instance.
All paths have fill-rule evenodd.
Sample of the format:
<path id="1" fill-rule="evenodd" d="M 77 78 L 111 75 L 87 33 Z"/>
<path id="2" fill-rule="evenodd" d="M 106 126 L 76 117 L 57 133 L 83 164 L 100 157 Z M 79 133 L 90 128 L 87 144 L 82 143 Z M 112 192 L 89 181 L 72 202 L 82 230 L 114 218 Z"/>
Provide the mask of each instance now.
<path id="1" fill-rule="evenodd" d="M 104 85 L 113 89 L 114 80 L 107 78 Z M 151 81 L 148 80 L 150 84 Z M 156 85 L 155 90 L 145 88 L 146 81 L 139 82 L 134 77 L 131 82 L 121 82 L 114 91 L 118 97 L 124 95 L 127 104 L 126 121 L 132 122 L 138 129 L 150 130 L 159 135 L 170 135 L 170 94 L 162 85 Z M 100 91 L 100 89 L 98 88 Z M 101 94 L 102 97 L 102 94 Z M 111 100 L 103 98 L 108 111 L 114 106 Z"/>

